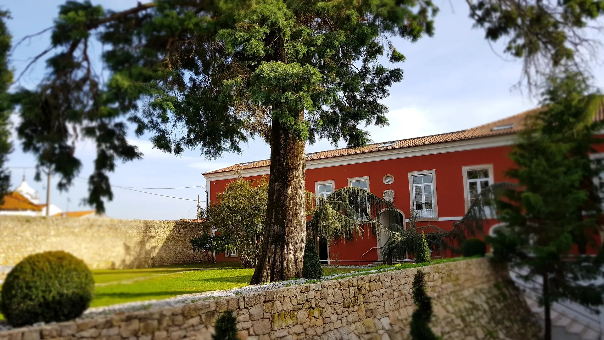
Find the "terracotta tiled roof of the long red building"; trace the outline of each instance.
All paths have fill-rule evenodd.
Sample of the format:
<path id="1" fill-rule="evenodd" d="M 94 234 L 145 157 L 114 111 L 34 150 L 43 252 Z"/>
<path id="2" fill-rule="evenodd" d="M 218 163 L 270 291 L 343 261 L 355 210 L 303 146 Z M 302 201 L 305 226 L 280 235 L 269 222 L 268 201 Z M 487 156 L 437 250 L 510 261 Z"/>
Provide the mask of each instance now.
<path id="1" fill-rule="evenodd" d="M 496 120 L 495 122 L 477 126 L 471 129 L 465 129 L 444 134 L 435 134 L 432 136 L 423 136 L 410 139 L 393 140 L 391 142 L 374 143 L 360 148 L 343 148 L 321 152 L 311 152 L 306 155 L 306 161 L 340 157 L 345 155 L 365 154 L 368 152 L 379 152 L 393 149 L 411 148 L 413 146 L 432 145 L 446 142 L 456 142 L 458 140 L 468 140 L 483 137 L 504 136 L 515 134 L 522 129 L 522 120 L 528 113 L 539 109 L 524 111 L 511 117 Z M 243 169 L 262 168 L 271 165 L 271 160 L 259 160 L 255 162 L 239 163 L 226 168 L 205 172 L 206 174 L 217 174 L 219 172 L 236 171 Z"/>

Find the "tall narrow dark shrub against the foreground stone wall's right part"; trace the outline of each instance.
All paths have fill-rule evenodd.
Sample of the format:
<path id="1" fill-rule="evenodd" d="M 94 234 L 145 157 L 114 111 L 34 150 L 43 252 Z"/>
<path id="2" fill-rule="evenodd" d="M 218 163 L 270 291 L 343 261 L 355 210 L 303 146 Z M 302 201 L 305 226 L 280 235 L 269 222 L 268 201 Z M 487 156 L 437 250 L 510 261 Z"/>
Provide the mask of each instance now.
<path id="1" fill-rule="evenodd" d="M 426 294 L 425 273 L 417 270 L 413 276 L 413 302 L 417 309 L 411 315 L 410 335 L 413 340 L 437 340 L 429 323 L 432 318 L 432 299 Z"/>

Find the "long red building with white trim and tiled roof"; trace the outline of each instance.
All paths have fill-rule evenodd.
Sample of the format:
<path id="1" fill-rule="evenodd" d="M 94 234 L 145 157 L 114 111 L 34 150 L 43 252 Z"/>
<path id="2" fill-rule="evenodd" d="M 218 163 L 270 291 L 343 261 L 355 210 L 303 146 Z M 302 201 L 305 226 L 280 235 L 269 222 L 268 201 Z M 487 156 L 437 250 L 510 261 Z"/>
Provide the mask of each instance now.
<path id="1" fill-rule="evenodd" d="M 451 230 L 466 213 L 473 195 L 493 183 L 505 181 L 513 165 L 508 154 L 522 129 L 525 113 L 463 131 L 376 143 L 362 148 L 335 149 L 306 155 L 306 189 L 329 195 L 344 186 L 357 186 L 393 203 L 408 221 L 411 208 L 419 213 L 418 226 L 432 224 Z M 604 147 L 599 146 L 604 152 Z M 604 158 L 603 154 L 594 157 Z M 216 199 L 225 185 L 237 178 L 269 174 L 269 160 L 229 166 L 204 174 L 207 199 Z M 388 221 L 382 221 L 388 225 Z M 496 227 L 491 221 L 484 230 Z M 352 243 L 324 245 L 322 260 L 341 264 L 368 264 L 381 260 L 383 235 L 366 233 Z M 236 260 L 219 254 L 219 260 Z"/>

